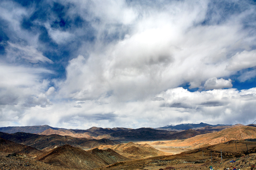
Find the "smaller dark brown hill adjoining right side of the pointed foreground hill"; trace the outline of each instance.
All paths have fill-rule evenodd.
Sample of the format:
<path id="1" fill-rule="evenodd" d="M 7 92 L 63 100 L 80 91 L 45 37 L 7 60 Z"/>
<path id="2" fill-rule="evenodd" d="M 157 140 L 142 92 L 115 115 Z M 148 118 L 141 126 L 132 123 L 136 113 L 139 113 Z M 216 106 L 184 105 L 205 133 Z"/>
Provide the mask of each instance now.
<path id="1" fill-rule="evenodd" d="M 129 158 L 126 158 L 126 157 L 120 155 L 119 153 L 115 152 L 114 150 L 112 150 L 110 148 L 108 148 L 106 150 L 101 150 L 101 149 L 95 148 L 95 149 L 91 149 L 87 152 L 99 157 L 108 165 L 114 164 L 116 162 L 131 160 Z"/>

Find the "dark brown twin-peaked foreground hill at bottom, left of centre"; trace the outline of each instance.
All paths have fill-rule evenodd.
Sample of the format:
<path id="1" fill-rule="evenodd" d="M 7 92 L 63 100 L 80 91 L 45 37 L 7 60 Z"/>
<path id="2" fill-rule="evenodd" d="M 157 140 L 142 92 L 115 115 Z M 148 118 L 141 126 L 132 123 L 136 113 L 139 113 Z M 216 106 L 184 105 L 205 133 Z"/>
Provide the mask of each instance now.
<path id="1" fill-rule="evenodd" d="M 86 152 L 80 148 L 63 145 L 36 158 L 44 163 L 74 169 L 94 169 L 119 161 L 130 160 L 108 149 L 93 149 Z"/>

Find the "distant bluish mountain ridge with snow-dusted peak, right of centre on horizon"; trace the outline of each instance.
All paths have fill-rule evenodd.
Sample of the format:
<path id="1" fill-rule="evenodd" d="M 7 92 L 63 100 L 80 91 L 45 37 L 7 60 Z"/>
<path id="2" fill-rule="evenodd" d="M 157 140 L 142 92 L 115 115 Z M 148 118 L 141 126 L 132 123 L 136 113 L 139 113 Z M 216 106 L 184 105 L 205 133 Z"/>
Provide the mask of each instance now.
<path id="1" fill-rule="evenodd" d="M 217 125 L 211 125 L 211 124 L 207 124 L 207 123 L 199 123 L 199 124 L 194 124 L 194 123 L 183 123 L 183 124 L 179 124 L 179 125 L 167 125 L 164 127 L 159 127 L 159 128 L 155 128 L 155 129 L 163 129 L 163 130 L 188 130 L 188 129 L 195 129 L 195 128 L 203 128 L 205 126 L 212 126 L 212 127 L 216 127 L 216 126 L 231 126 L 231 125 L 224 125 L 224 124 L 217 124 Z"/>

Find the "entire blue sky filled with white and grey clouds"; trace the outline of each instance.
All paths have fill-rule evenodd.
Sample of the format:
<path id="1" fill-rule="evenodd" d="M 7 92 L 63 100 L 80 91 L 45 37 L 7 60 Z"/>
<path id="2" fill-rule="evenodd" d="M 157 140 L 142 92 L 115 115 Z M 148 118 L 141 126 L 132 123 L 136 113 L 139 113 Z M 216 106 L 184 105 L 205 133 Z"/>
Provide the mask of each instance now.
<path id="1" fill-rule="evenodd" d="M 0 126 L 256 120 L 256 2 L 0 0 Z"/>

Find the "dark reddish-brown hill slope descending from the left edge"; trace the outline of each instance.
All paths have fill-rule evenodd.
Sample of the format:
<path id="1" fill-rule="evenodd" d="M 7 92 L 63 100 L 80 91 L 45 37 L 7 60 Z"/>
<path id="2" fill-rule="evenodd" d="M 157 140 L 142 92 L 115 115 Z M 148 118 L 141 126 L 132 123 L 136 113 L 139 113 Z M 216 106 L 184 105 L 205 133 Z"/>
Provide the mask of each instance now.
<path id="1" fill-rule="evenodd" d="M 39 151 L 30 146 L 26 146 L 23 144 L 17 144 L 15 142 L 0 138 L 0 151 L 1 152 L 9 152 L 9 153 L 18 153 L 21 155 L 26 155 L 28 157 L 36 157 L 44 152 Z"/>

